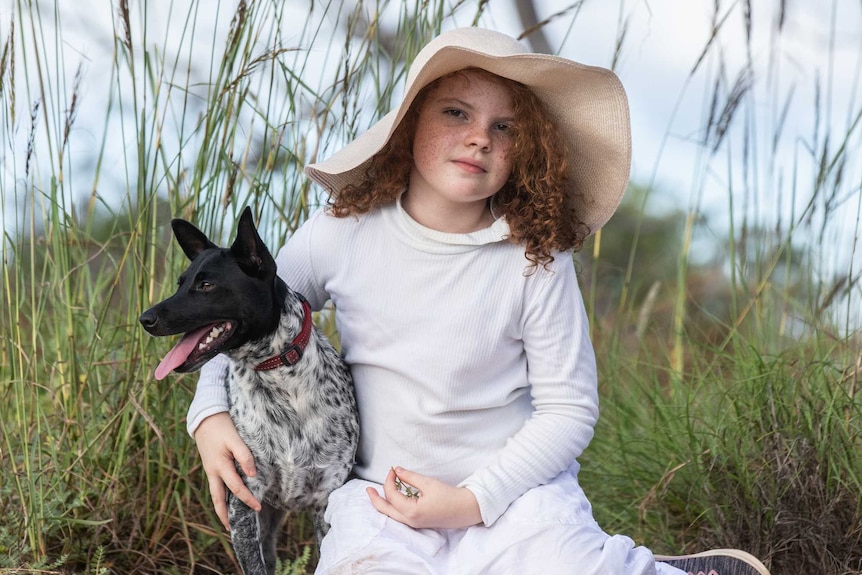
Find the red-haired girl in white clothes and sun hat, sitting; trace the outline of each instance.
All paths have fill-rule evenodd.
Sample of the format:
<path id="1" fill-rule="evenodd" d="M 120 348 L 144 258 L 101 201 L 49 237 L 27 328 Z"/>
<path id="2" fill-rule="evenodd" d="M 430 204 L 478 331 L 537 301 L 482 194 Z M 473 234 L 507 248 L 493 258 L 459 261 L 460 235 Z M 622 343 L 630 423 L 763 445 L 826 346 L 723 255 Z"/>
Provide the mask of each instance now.
<path id="1" fill-rule="evenodd" d="M 570 252 L 629 164 L 612 72 L 468 28 L 419 53 L 398 108 L 307 167 L 330 205 L 279 273 L 313 309 L 335 304 L 361 418 L 318 573 L 684 573 L 605 534 L 578 485 L 598 396 Z M 227 526 L 226 488 L 259 504 L 224 377 L 220 358 L 204 368 L 188 422 Z M 706 560 L 686 569 L 732 558 Z"/>

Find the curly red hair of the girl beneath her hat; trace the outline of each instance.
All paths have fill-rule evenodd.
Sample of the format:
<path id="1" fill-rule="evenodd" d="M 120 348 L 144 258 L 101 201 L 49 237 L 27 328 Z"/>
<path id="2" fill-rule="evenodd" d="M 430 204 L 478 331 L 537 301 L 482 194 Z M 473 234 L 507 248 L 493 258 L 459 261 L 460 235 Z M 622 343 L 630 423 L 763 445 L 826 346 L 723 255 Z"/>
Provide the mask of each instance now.
<path id="1" fill-rule="evenodd" d="M 535 266 L 553 261 L 554 250 L 581 249 L 590 230 L 567 201 L 568 150 L 542 102 L 530 89 L 486 70 L 469 68 L 511 90 L 514 105 L 512 173 L 494 194 L 494 213 L 505 215 L 509 241 L 524 246 Z M 439 84 L 453 72 L 425 86 L 386 145 L 374 155 L 358 185 L 348 185 L 329 199 L 336 217 L 367 213 L 394 202 L 407 186 L 413 167 L 413 137 L 419 109 Z"/>

